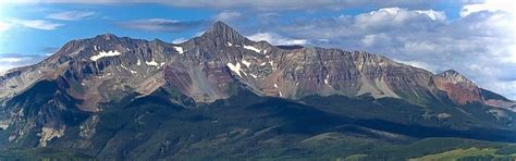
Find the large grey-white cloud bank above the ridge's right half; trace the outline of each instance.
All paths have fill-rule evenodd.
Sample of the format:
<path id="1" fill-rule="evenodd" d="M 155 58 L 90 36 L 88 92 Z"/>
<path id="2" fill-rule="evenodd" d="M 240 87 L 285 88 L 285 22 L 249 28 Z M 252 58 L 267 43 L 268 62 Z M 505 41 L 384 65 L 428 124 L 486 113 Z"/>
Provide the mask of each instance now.
<path id="1" fill-rule="evenodd" d="M 271 28 L 285 37 L 380 53 L 434 73 L 454 69 L 481 87 L 516 99 L 516 76 L 511 76 L 516 73 L 516 26 L 514 14 L 506 11 L 486 9 L 449 20 L 441 11 L 385 8 Z"/>

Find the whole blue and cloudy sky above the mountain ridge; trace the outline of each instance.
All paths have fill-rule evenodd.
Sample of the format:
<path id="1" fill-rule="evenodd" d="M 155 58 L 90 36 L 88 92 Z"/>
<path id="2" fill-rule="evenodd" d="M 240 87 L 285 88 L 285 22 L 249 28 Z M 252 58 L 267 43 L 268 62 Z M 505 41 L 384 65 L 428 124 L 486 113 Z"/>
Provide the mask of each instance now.
<path id="1" fill-rule="evenodd" d="M 372 0 L 0 0 L 0 71 L 112 33 L 181 42 L 223 21 L 254 40 L 365 50 L 454 69 L 516 99 L 515 3 Z"/>

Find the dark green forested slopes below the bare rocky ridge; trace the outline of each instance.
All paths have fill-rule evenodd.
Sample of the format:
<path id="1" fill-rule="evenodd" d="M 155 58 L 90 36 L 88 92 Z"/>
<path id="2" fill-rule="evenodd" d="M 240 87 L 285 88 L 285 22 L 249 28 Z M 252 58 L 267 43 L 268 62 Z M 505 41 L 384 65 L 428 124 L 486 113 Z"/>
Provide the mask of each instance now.
<path id="1" fill-rule="evenodd" d="M 324 108 L 320 110 L 285 99 L 259 97 L 245 89 L 238 89 L 235 97 L 199 108 L 175 104 L 170 101 L 171 97 L 172 92 L 160 88 L 133 101 L 110 103 L 81 125 L 66 125 L 63 135 L 58 133 L 60 135 L 46 141 L 45 149 L 50 152 L 78 152 L 74 156 L 105 160 L 331 159 L 357 153 L 367 154 L 370 159 L 401 160 L 462 147 L 499 149 L 508 146 L 469 139 L 516 141 L 513 137 L 516 133 L 511 131 L 487 127 L 451 129 L 393 123 L 383 119 L 354 119 L 346 116 L 347 113 L 327 112 Z M 341 110 L 378 107 L 385 109 L 385 113 L 395 114 L 390 112 L 395 109 L 394 103 L 386 101 L 371 102 L 367 98 L 337 100 L 340 102 L 335 103 L 349 104 L 339 107 Z M 308 104 L 321 103 L 314 99 L 305 101 Z M 407 106 L 398 108 L 410 110 Z M 23 139 L 24 145 L 14 150 L 30 147 L 28 145 L 42 146 L 36 134 L 26 135 L 36 139 Z M 420 140 L 427 137 L 455 138 Z M 407 150 L 407 146 L 419 148 Z M 24 158 L 37 152 L 26 156 L 15 153 L 2 154 L 0 151 L 0 157 Z"/>

